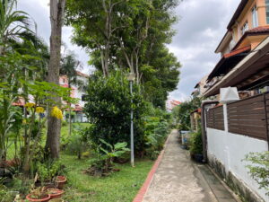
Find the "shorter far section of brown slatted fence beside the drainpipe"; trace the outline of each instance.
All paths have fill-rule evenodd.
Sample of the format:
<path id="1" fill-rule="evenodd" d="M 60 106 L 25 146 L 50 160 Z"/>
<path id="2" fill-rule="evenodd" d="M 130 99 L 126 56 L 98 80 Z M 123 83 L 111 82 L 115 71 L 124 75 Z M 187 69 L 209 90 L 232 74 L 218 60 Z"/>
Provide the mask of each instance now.
<path id="1" fill-rule="evenodd" d="M 223 106 L 216 107 L 207 111 L 206 127 L 224 130 Z"/>

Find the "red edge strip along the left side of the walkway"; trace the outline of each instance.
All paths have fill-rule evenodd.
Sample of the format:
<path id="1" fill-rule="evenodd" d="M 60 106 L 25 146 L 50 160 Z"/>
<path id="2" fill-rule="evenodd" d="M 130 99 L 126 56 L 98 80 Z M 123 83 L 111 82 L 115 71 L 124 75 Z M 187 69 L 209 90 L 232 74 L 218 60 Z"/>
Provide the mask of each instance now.
<path id="1" fill-rule="evenodd" d="M 147 192 L 147 190 L 149 189 L 149 187 L 151 186 L 153 176 L 154 176 L 155 172 L 157 171 L 157 169 L 158 169 L 158 167 L 160 165 L 161 159 L 163 157 L 166 145 L 168 143 L 168 140 L 169 140 L 171 134 L 172 133 L 170 133 L 170 135 L 167 137 L 167 140 L 166 140 L 166 142 L 165 142 L 165 144 L 163 146 L 161 154 L 159 154 L 157 160 L 154 162 L 154 165 L 152 166 L 152 170 L 148 173 L 148 176 L 147 176 L 146 180 L 143 182 L 143 186 L 141 187 L 141 189 L 139 189 L 139 191 L 136 194 L 133 202 L 142 202 L 143 201 L 143 197 L 144 197 L 145 193 Z"/>

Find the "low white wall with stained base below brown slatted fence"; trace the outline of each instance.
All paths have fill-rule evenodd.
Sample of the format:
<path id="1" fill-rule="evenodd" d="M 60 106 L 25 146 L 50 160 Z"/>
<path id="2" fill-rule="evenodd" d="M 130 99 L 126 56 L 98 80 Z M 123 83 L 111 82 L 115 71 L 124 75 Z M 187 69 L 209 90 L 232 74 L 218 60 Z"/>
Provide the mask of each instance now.
<path id="1" fill-rule="evenodd" d="M 232 189 L 247 201 L 269 201 L 265 189 L 258 189 L 256 181 L 247 173 L 248 162 L 242 162 L 246 154 L 268 151 L 265 140 L 207 127 L 207 144 L 209 163 Z"/>

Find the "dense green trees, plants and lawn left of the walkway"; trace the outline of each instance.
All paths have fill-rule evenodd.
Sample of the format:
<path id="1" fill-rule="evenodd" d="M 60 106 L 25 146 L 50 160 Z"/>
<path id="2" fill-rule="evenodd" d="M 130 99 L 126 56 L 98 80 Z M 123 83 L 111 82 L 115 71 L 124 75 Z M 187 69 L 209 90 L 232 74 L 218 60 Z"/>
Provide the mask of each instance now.
<path id="1" fill-rule="evenodd" d="M 82 201 L 89 197 L 88 191 L 101 193 L 93 201 L 107 195 L 118 196 L 109 201 L 132 200 L 152 165 L 149 159 L 158 156 L 169 133 L 170 116 L 164 107 L 178 84 L 180 64 L 166 44 L 174 34 L 172 9 L 177 4 L 176 0 L 68 0 L 65 10 L 65 0 L 51 0 L 48 48 L 31 30 L 29 15 L 17 11 L 16 0 L 0 1 L 2 201 L 46 198 L 50 193 L 46 186 L 61 188 L 62 175 L 70 178 L 68 201 Z M 73 26 L 74 43 L 87 49 L 97 69 L 88 84 L 76 79 L 80 63 L 75 56 L 61 55 L 63 22 Z M 133 95 L 128 73 L 135 74 Z M 68 76 L 67 87 L 59 85 L 59 75 Z M 65 114 L 74 115 L 73 84 L 86 91 L 87 125 L 63 120 Z M 135 157 L 142 158 L 135 168 L 124 164 L 129 161 L 131 110 Z M 125 179 L 127 175 L 134 176 Z M 80 179 L 86 180 L 78 183 Z M 91 189 L 85 188 L 91 182 Z M 102 191 L 94 183 L 101 184 Z M 123 185 L 129 187 L 128 193 L 112 191 Z M 77 189 L 81 196 L 75 198 Z"/>

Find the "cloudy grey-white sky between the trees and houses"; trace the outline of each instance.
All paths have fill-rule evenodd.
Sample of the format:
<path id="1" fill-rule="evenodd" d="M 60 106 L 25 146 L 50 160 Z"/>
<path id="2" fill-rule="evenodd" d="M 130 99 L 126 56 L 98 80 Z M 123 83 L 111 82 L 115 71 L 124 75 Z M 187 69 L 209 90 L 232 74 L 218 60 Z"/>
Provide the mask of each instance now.
<path id="1" fill-rule="evenodd" d="M 50 35 L 49 0 L 18 0 L 18 8 L 30 14 L 38 24 L 38 34 L 47 43 Z M 179 21 L 174 26 L 178 31 L 169 49 L 180 61 L 181 75 L 178 89 L 171 92 L 173 100 L 185 101 L 204 75 L 208 75 L 220 59 L 214 53 L 226 32 L 226 27 L 240 0 L 184 0 L 178 5 Z M 63 29 L 63 41 L 68 49 L 73 50 L 84 69 L 91 73 L 87 65 L 88 55 L 71 41 L 72 29 Z"/>

